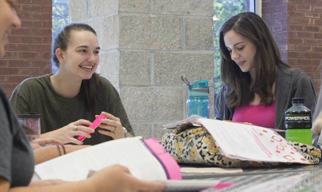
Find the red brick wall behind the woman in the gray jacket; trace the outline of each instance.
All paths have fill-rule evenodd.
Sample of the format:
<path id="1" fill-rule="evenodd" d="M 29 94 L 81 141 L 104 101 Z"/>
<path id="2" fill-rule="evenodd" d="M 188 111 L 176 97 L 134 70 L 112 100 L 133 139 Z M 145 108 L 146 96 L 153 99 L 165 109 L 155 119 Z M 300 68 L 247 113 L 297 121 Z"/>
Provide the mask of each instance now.
<path id="1" fill-rule="evenodd" d="M 286 3 L 287 2 L 287 3 Z M 322 0 L 262 0 L 262 17 L 289 65 L 300 67 L 320 86 Z"/>

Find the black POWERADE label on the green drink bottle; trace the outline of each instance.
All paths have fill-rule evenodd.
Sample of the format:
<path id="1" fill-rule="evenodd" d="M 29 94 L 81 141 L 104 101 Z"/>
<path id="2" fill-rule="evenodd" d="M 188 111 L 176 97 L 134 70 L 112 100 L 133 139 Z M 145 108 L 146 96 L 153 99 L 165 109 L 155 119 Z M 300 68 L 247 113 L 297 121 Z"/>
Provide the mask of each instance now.
<path id="1" fill-rule="evenodd" d="M 285 128 L 310 129 L 312 127 L 311 111 L 287 111 L 285 112 Z"/>

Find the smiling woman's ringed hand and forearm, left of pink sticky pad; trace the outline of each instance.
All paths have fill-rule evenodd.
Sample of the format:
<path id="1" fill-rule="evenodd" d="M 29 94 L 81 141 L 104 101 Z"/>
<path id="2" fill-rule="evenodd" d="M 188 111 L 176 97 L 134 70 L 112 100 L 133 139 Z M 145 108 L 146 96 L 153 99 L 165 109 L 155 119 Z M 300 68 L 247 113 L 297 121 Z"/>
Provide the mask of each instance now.
<path id="1" fill-rule="evenodd" d="M 91 137 L 90 134 L 84 133 L 83 131 L 94 133 L 93 129 L 91 129 L 89 127 L 82 126 L 82 125 L 90 126 L 90 125 L 92 125 L 92 123 L 88 120 L 80 119 L 78 121 L 75 121 L 75 122 L 72 122 L 72 123 L 66 125 L 65 127 L 59 128 L 57 130 L 54 130 L 54 131 L 51 131 L 48 133 L 41 134 L 40 137 L 41 138 L 55 138 L 64 144 L 74 143 L 74 144 L 81 145 L 81 144 L 83 144 L 83 142 L 74 138 L 75 135 L 77 135 L 77 136 L 81 135 L 86 138 L 90 138 Z"/>

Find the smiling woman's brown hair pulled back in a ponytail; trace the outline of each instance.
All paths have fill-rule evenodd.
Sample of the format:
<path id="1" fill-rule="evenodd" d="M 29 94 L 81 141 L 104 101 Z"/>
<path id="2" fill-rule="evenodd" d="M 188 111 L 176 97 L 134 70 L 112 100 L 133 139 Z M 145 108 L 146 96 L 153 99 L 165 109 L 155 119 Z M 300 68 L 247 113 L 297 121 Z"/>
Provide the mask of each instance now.
<path id="1" fill-rule="evenodd" d="M 85 23 L 71 23 L 66 25 L 55 37 L 52 42 L 52 65 L 59 68 L 59 60 L 56 56 L 56 50 L 60 48 L 65 51 L 71 39 L 73 31 L 90 31 L 96 35 L 95 30 Z M 84 79 L 81 83 L 81 93 L 86 102 L 87 110 L 95 111 L 98 106 L 99 96 L 96 94 L 100 84 L 99 75 L 94 73 L 90 79 Z"/>

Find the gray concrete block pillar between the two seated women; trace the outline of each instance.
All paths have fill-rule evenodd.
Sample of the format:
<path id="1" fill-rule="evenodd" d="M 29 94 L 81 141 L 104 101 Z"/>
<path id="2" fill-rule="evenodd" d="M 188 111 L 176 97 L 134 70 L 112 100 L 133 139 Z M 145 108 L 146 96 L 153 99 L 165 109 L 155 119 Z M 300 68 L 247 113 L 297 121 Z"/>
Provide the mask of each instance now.
<path id="1" fill-rule="evenodd" d="M 136 135 L 161 140 L 186 118 L 189 81 L 213 87 L 212 0 L 69 0 L 70 21 L 98 33 L 98 73 L 118 89 Z M 213 89 L 210 90 L 214 118 Z"/>

